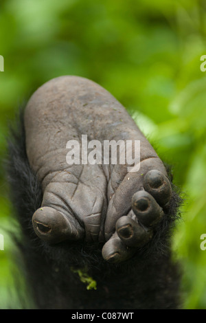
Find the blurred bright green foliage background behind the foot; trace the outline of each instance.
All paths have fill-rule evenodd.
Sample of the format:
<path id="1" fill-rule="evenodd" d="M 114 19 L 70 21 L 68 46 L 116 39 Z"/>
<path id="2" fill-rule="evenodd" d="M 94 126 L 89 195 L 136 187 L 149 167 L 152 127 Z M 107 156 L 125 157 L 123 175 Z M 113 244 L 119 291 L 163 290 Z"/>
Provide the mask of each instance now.
<path id="1" fill-rule="evenodd" d="M 16 249 L 6 234 L 13 228 L 3 170 L 8 120 L 37 87 L 62 75 L 108 89 L 173 165 L 185 199 L 173 243 L 184 270 L 183 307 L 206 309 L 206 250 L 200 247 L 206 233 L 205 39 L 201 0 L 1 0 L 1 309 L 23 307 L 10 260 Z"/>

